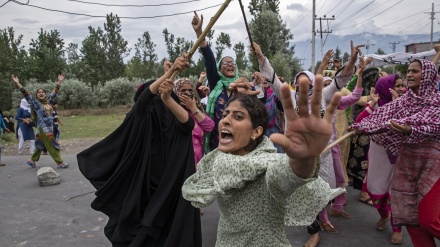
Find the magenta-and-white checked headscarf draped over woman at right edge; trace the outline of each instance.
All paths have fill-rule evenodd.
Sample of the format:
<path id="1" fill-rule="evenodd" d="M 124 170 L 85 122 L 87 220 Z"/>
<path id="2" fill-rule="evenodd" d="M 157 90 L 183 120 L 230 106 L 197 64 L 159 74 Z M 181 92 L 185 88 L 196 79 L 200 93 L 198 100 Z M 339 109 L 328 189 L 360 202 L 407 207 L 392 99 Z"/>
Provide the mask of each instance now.
<path id="1" fill-rule="evenodd" d="M 422 64 L 419 95 L 410 89 L 396 100 L 379 107 L 360 123 L 352 125 L 354 129 L 370 133 L 385 129 L 385 133 L 372 135 L 370 138 L 385 147 L 391 155 L 399 154 L 403 136 L 391 131 L 390 120 L 399 125 L 412 127 L 413 133 L 405 140 L 406 143 L 421 143 L 426 140 L 440 142 L 440 93 L 437 89 L 437 68 L 431 61 L 425 59 L 415 61 Z"/>

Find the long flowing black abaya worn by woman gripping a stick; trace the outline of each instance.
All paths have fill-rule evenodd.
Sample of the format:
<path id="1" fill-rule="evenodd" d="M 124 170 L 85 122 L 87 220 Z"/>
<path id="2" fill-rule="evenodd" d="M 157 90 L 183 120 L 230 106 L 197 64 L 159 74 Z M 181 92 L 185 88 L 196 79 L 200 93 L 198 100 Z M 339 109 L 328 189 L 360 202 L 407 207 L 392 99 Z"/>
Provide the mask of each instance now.
<path id="1" fill-rule="evenodd" d="M 202 245 L 199 210 L 181 193 L 195 172 L 193 128 L 191 117 L 180 123 L 147 88 L 121 126 L 77 155 L 113 246 Z"/>

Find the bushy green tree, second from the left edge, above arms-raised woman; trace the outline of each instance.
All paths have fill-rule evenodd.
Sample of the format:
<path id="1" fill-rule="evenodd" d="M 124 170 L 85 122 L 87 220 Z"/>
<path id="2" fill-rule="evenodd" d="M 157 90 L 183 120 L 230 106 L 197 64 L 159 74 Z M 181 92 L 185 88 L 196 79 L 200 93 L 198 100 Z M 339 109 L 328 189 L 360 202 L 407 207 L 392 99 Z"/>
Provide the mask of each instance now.
<path id="1" fill-rule="evenodd" d="M 40 82 L 56 80 L 66 68 L 64 40 L 57 30 L 49 32 L 40 29 L 37 39 L 29 47 L 30 77 Z"/>

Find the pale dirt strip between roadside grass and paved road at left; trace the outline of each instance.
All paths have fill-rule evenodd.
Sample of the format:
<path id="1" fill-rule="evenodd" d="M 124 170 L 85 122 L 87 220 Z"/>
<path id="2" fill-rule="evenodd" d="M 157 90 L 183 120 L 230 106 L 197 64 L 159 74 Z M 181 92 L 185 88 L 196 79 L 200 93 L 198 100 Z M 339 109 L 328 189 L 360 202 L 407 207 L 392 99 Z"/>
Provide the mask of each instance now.
<path id="1" fill-rule="evenodd" d="M 77 154 L 84 149 L 92 146 L 93 144 L 100 141 L 101 138 L 85 138 L 85 139 L 70 139 L 70 140 L 60 140 L 61 155 L 63 154 Z M 25 143 L 23 148 L 24 153 L 28 154 L 26 151 L 29 150 L 29 142 Z M 18 155 L 18 144 L 6 143 L 2 147 L 2 155 L 11 156 Z"/>

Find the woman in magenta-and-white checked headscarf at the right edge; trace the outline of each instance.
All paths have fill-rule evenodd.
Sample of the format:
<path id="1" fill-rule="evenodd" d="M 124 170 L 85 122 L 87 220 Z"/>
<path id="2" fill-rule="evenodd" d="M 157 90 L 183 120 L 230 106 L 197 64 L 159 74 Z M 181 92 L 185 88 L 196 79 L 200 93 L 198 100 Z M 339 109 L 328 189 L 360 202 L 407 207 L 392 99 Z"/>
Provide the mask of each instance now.
<path id="1" fill-rule="evenodd" d="M 414 60 L 408 91 L 352 129 L 370 135 L 397 156 L 391 182 L 393 224 L 406 226 L 414 246 L 434 247 L 440 238 L 440 93 L 431 61 Z"/>

